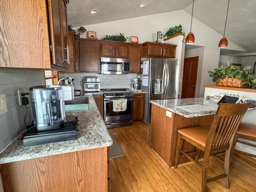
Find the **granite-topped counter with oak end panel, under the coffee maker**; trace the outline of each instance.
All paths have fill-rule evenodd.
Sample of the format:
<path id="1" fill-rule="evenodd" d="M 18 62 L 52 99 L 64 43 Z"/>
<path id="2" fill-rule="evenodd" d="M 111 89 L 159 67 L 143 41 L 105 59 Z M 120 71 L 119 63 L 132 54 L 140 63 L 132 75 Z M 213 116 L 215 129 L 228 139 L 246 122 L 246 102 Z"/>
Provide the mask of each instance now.
<path id="1" fill-rule="evenodd" d="M 108 146 L 112 139 L 92 95 L 78 117 L 77 140 L 24 147 L 16 139 L 0 154 L 5 191 L 108 191 Z"/>

